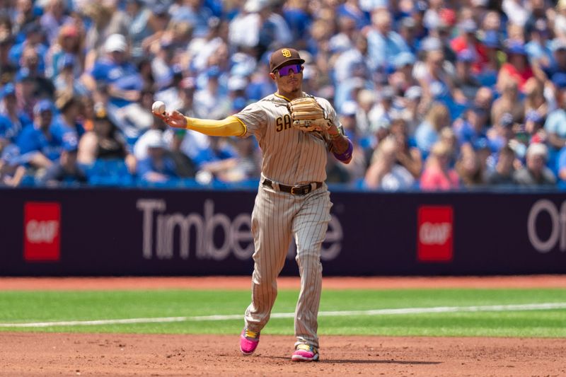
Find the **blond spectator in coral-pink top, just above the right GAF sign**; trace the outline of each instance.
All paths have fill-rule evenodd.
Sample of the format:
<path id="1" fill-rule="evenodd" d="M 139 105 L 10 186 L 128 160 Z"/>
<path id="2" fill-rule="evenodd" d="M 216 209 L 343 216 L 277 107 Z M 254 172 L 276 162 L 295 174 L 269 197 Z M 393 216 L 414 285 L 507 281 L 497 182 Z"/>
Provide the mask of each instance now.
<path id="1" fill-rule="evenodd" d="M 450 149 L 444 141 L 437 141 L 430 151 L 420 178 L 422 190 L 454 190 L 460 186 L 458 173 L 451 169 Z"/>

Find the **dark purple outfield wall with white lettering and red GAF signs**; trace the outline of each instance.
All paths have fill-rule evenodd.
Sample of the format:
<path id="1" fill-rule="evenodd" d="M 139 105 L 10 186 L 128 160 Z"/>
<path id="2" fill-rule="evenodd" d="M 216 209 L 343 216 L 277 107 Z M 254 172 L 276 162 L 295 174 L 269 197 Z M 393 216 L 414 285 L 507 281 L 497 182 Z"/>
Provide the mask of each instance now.
<path id="1" fill-rule="evenodd" d="M 0 190 L 0 274 L 247 275 L 255 192 Z M 330 275 L 566 272 L 566 195 L 333 192 Z M 298 273 L 294 243 L 282 274 Z"/>

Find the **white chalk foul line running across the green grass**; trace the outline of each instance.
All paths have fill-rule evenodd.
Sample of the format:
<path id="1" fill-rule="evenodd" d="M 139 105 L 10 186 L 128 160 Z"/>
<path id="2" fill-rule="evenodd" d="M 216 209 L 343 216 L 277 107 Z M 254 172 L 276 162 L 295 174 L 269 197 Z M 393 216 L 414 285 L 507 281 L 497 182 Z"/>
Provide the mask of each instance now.
<path id="1" fill-rule="evenodd" d="M 376 309 L 373 311 L 321 311 L 320 317 L 345 317 L 364 315 L 400 315 L 423 313 L 461 313 L 478 311 L 545 311 L 566 309 L 566 303 L 524 303 L 515 305 L 485 305 L 485 306 L 436 306 L 432 308 L 398 308 Z M 294 318 L 295 313 L 272 313 L 271 318 Z M 240 320 L 243 314 L 229 315 L 199 315 L 192 317 L 161 317 L 161 318 L 126 318 L 121 320 L 68 320 L 57 322 L 35 323 L 0 323 L 0 327 L 52 327 L 52 326 L 93 326 L 93 325 L 122 325 L 127 323 L 168 323 L 189 321 Z"/>

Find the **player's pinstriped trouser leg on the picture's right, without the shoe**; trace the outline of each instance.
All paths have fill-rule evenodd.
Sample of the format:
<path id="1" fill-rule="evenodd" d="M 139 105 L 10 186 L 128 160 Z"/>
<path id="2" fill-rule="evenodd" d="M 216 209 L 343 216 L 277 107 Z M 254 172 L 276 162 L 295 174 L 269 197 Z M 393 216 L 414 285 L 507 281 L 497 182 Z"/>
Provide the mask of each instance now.
<path id="1" fill-rule="evenodd" d="M 296 344 L 308 344 L 318 349 L 318 306 L 322 289 L 320 248 L 330 221 L 330 193 L 317 190 L 307 195 L 293 222 L 301 274 L 301 292 L 295 311 Z M 318 357 L 318 355 L 316 356 Z"/>

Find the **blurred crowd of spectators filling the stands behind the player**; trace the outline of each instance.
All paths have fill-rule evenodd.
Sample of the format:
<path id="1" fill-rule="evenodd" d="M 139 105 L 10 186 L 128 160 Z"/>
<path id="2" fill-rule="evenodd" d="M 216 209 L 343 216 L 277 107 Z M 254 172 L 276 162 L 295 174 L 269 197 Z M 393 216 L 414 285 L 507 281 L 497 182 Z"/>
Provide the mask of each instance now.
<path id="1" fill-rule="evenodd" d="M 354 143 L 329 183 L 566 187 L 566 0 L 0 0 L 0 185 L 257 182 L 151 104 L 223 119 L 284 46 Z"/>

